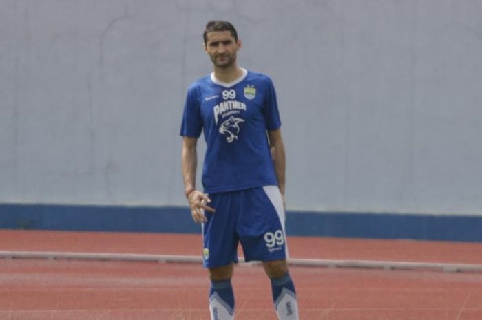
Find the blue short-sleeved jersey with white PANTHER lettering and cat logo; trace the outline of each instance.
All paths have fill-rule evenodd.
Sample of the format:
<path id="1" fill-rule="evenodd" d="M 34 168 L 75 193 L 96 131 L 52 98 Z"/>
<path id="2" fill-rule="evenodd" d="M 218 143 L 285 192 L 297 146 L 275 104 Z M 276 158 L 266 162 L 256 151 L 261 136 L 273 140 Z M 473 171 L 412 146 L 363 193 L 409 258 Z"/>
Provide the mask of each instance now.
<path id="1" fill-rule="evenodd" d="M 211 74 L 189 87 L 180 134 L 198 138 L 204 130 L 202 185 L 218 193 L 277 184 L 266 130 L 280 126 L 273 82 L 243 70 L 233 83 Z"/>

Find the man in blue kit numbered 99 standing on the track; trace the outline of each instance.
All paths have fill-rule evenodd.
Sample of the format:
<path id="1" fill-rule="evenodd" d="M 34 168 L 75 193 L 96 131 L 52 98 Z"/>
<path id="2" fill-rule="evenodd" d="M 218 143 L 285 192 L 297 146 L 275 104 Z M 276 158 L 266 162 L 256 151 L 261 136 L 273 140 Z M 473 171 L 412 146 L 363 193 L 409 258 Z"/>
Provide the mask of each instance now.
<path id="1" fill-rule="evenodd" d="M 203 38 L 213 73 L 189 87 L 180 134 L 185 195 L 193 220 L 202 223 L 211 319 L 234 317 L 231 277 L 240 242 L 245 259 L 261 261 L 271 279 L 278 319 L 298 320 L 286 266 L 285 156 L 273 83 L 238 67 L 242 43 L 231 23 L 210 21 Z M 196 189 L 201 131 L 204 191 Z"/>

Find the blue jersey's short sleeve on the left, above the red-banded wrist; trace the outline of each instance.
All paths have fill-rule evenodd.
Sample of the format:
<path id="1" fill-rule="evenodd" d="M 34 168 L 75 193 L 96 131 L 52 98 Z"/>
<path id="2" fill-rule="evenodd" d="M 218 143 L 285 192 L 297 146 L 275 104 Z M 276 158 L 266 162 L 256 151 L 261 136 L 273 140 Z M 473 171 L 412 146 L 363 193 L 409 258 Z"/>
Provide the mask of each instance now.
<path id="1" fill-rule="evenodd" d="M 180 135 L 198 138 L 201 134 L 201 131 L 202 118 L 198 102 L 198 94 L 196 87 L 190 87 L 187 90 L 184 112 L 182 114 Z"/>

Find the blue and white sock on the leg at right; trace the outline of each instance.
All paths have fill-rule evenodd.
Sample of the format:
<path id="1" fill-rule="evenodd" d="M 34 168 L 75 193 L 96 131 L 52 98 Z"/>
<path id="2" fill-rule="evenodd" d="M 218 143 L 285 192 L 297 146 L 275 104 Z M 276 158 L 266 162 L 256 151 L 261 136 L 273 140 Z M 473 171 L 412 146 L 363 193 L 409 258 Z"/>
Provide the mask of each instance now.
<path id="1" fill-rule="evenodd" d="M 298 320 L 295 284 L 289 273 L 280 278 L 271 279 L 271 291 L 278 319 Z"/>

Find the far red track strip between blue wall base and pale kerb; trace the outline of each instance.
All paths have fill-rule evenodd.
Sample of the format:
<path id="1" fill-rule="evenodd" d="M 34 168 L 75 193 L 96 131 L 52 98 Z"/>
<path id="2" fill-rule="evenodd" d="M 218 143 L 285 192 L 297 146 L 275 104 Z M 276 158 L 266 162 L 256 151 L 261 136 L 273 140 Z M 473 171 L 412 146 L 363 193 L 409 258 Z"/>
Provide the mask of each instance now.
<path id="1" fill-rule="evenodd" d="M 482 244 L 412 240 L 289 237 L 290 257 L 482 264 Z M 0 250 L 202 255 L 201 236 L 0 230 Z"/>

